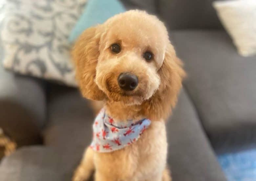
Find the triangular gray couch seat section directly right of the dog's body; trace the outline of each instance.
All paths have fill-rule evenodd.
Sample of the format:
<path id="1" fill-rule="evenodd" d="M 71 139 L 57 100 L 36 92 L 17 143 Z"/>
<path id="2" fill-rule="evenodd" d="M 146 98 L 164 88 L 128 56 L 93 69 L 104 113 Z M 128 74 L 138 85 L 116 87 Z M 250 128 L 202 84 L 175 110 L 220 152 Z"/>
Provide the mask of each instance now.
<path id="1" fill-rule="evenodd" d="M 168 163 L 176 181 L 225 181 L 224 173 L 184 90 L 167 123 Z"/>

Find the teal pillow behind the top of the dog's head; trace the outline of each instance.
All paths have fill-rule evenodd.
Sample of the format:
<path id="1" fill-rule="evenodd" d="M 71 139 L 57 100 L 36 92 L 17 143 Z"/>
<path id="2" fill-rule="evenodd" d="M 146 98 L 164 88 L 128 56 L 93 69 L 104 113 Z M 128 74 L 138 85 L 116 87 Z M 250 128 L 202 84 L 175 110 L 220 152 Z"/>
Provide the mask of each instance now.
<path id="1" fill-rule="evenodd" d="M 73 43 L 87 28 L 104 23 L 108 18 L 124 11 L 125 8 L 118 0 L 88 0 L 83 14 L 69 35 L 69 42 Z"/>

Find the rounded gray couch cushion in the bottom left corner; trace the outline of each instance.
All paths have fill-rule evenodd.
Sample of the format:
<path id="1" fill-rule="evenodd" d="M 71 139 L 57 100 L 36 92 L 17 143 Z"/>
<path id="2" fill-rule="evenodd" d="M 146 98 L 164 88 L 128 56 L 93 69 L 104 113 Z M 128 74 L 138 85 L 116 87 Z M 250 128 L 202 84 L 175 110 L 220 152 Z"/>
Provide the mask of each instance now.
<path id="1" fill-rule="evenodd" d="M 1 161 L 1 181 L 70 181 L 70 163 L 62 152 L 43 146 L 19 149 Z M 67 169 L 68 168 L 68 169 Z"/>

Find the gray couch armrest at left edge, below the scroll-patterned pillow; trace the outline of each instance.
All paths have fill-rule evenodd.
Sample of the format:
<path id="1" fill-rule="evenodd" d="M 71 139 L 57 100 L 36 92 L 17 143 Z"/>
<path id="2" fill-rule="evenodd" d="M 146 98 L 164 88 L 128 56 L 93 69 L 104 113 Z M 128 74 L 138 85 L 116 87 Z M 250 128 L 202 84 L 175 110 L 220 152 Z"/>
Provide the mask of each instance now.
<path id="1" fill-rule="evenodd" d="M 4 70 L 0 62 L 0 127 L 18 146 L 40 143 L 45 97 L 42 82 Z"/>

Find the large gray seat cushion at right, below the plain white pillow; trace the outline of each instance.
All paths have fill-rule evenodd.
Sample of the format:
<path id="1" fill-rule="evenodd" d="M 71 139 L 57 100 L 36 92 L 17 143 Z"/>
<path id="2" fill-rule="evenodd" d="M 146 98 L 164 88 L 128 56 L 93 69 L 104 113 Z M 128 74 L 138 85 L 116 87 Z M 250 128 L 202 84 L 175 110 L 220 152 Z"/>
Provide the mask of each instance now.
<path id="1" fill-rule="evenodd" d="M 193 100 L 218 151 L 256 143 L 256 56 L 241 57 L 224 31 L 170 33 L 188 78 Z"/>

